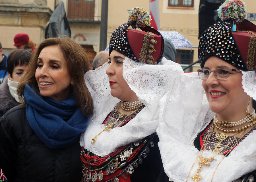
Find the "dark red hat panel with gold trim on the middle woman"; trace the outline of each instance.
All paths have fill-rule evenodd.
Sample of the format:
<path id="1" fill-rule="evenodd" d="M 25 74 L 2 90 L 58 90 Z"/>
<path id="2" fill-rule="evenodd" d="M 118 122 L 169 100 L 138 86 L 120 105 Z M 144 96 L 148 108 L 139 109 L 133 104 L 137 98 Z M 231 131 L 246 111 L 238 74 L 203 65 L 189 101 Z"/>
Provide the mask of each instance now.
<path id="1" fill-rule="evenodd" d="M 128 42 L 140 62 L 156 64 L 162 54 L 162 37 L 152 32 L 127 30 Z"/>

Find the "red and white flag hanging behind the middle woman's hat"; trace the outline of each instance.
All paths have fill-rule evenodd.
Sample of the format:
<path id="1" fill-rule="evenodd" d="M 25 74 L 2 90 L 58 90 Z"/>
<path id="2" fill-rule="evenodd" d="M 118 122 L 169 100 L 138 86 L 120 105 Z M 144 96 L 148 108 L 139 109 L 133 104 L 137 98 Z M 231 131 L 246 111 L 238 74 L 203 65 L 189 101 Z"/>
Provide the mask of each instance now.
<path id="1" fill-rule="evenodd" d="M 150 26 L 156 30 L 160 30 L 160 17 L 159 17 L 159 1 L 150 0 L 149 11 L 151 16 Z"/>

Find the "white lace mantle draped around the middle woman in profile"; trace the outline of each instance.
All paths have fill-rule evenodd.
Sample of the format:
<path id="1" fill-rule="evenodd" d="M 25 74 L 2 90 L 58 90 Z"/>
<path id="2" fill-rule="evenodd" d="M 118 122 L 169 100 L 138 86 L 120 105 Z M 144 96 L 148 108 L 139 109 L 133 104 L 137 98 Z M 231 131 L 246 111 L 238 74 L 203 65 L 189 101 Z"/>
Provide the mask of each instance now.
<path id="1" fill-rule="evenodd" d="M 146 107 L 125 126 L 102 132 L 97 137 L 97 141 L 91 144 L 92 138 L 105 128 L 102 122 L 106 116 L 120 101 L 110 94 L 107 67 L 108 63 L 105 63 L 84 75 L 86 86 L 94 101 L 94 115 L 80 137 L 81 146 L 102 157 L 120 146 L 142 139 L 156 131 L 159 123 L 158 102 L 166 89 L 173 84 L 174 78 L 184 73 L 179 64 L 166 58 L 163 58 L 158 65 L 148 65 L 125 57 L 123 77 Z"/>

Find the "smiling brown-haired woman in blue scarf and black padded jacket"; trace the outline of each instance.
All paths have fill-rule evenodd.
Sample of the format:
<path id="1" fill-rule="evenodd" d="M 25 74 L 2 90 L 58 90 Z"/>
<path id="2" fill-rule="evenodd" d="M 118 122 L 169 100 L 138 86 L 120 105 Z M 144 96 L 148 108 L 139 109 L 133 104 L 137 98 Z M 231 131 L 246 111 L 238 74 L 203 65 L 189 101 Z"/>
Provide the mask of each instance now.
<path id="1" fill-rule="evenodd" d="M 93 114 L 90 63 L 68 37 L 46 39 L 18 86 L 23 104 L 0 120 L 0 166 L 9 181 L 80 181 L 80 133 Z"/>

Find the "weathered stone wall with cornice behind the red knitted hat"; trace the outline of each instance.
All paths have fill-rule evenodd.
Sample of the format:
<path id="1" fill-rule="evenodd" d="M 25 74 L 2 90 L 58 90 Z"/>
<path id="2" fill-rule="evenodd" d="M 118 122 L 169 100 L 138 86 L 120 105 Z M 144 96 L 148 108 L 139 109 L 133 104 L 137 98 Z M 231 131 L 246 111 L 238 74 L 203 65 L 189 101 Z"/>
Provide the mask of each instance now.
<path id="1" fill-rule="evenodd" d="M 0 42 L 5 53 L 15 49 L 13 38 L 27 33 L 34 43 L 44 40 L 45 27 L 53 11 L 46 0 L 0 0 Z"/>

